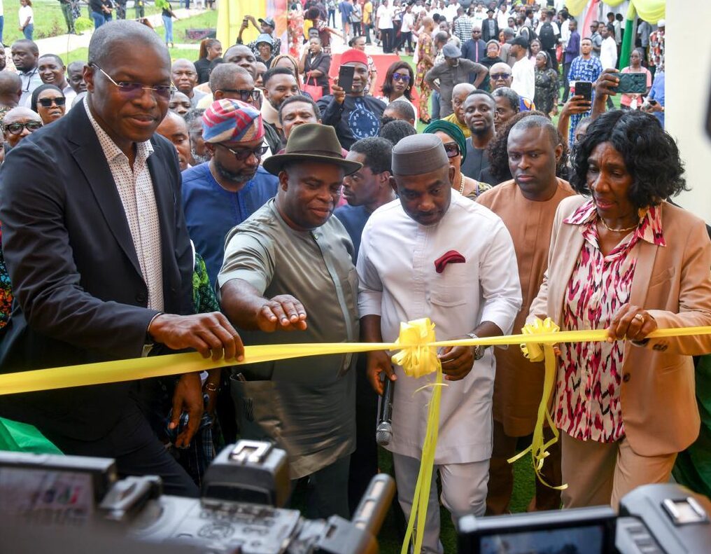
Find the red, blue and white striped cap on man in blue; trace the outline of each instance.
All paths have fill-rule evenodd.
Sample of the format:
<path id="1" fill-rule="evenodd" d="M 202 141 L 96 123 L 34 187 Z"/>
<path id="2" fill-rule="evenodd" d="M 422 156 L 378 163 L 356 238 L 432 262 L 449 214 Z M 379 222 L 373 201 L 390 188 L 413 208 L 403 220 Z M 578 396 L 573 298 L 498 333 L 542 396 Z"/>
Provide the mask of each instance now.
<path id="1" fill-rule="evenodd" d="M 203 114 L 205 142 L 251 142 L 262 137 L 262 114 L 246 102 L 223 98 L 213 102 Z"/>

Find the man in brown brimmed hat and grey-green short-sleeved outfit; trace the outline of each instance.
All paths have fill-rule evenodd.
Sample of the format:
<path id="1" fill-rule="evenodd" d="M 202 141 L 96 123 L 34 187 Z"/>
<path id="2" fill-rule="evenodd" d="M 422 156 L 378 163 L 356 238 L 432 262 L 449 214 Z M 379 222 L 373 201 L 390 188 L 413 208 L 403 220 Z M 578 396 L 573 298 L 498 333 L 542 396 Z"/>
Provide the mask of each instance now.
<path id="1" fill-rule="evenodd" d="M 279 191 L 226 239 L 223 311 L 259 344 L 357 341 L 353 245 L 332 215 L 343 176 L 360 164 L 343 159 L 333 127 L 307 123 L 264 167 Z M 318 518 L 348 517 L 354 385 L 348 354 L 255 363 L 232 376 L 242 437 L 269 437 L 287 451 L 291 478 L 309 478 Z"/>

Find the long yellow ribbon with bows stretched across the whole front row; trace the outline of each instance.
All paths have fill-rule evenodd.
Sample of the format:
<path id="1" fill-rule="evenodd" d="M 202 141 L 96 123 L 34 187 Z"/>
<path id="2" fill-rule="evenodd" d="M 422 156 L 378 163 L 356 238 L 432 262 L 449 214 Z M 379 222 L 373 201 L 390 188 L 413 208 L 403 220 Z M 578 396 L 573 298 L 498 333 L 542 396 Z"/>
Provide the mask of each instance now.
<path id="1" fill-rule="evenodd" d="M 657 329 L 648 335 L 650 339 L 661 339 L 675 336 L 692 336 L 711 334 L 710 327 L 682 327 L 675 329 Z M 535 337 L 535 339 L 534 339 Z M 552 387 L 555 384 L 555 355 L 552 345 L 555 343 L 595 342 L 605 341 L 607 331 L 557 331 L 557 326 L 550 319 L 535 322 L 526 326 L 520 335 L 486 337 L 483 339 L 459 339 L 456 341 L 436 341 L 434 324 L 429 319 L 418 319 L 400 325 L 400 336 L 395 343 L 306 343 L 306 344 L 272 344 L 267 346 L 245 346 L 245 359 L 235 361 L 213 361 L 204 359 L 198 353 L 171 354 L 149 358 L 134 358 L 110 362 L 87 363 L 79 366 L 38 369 L 33 371 L 18 371 L 0 375 L 0 395 L 30 393 L 38 390 L 80 387 L 85 385 L 100 385 L 117 383 L 119 381 L 137 380 L 165 375 L 177 375 L 193 371 L 203 371 L 224 366 L 238 366 L 245 363 L 276 361 L 286 358 L 303 356 L 323 356 L 326 354 L 358 353 L 371 350 L 397 350 L 393 361 L 402 366 L 406 375 L 419 377 L 437 372 L 435 383 L 432 383 L 432 398 L 427 412 L 427 431 L 422 443 L 422 460 L 415 486 L 415 499 L 407 534 L 402 544 L 402 554 L 407 552 L 410 536 L 415 532 L 415 554 L 422 548 L 424 533 L 424 518 L 427 515 L 429 488 L 432 484 L 434 468 L 434 453 L 437 447 L 439 432 L 439 403 L 442 398 L 442 365 L 437 358 L 439 346 L 510 346 L 518 345 L 532 361 L 545 359 L 544 395 L 538 409 L 538 421 L 534 431 L 531 447 L 520 453 L 515 459 L 527 452 L 532 453 L 533 465 L 538 479 L 543 460 L 547 456 L 547 448 L 557 440 L 557 430 L 552 423 L 548 407 Z M 542 439 L 543 420 L 547 420 L 554 432 L 554 439 L 544 443 Z M 565 487 L 565 485 L 563 486 Z M 560 487 L 554 487 L 560 488 Z M 417 526 L 416 526 L 417 525 Z M 416 527 L 415 527 L 416 526 Z"/>

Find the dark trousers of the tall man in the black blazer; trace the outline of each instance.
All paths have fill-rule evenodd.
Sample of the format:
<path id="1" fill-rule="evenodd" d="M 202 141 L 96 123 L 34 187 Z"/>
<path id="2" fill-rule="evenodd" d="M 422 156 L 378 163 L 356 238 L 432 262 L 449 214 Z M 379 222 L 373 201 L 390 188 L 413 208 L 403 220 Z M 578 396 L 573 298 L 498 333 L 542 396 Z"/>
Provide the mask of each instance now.
<path id="1" fill-rule="evenodd" d="M 158 475 L 166 494 L 199 496 L 198 487 L 158 440 L 134 400 L 129 400 L 114 428 L 95 441 L 45 433 L 65 454 L 116 459 L 119 475 Z"/>

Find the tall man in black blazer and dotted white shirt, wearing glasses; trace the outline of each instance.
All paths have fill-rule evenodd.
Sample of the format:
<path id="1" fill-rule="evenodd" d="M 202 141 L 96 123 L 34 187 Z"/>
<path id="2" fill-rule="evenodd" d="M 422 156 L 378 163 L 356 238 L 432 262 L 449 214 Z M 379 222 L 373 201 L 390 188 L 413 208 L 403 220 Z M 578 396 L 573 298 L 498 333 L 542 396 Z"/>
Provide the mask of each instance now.
<path id="1" fill-rule="evenodd" d="M 0 176 L 3 247 L 16 304 L 0 368 L 23 371 L 195 348 L 243 355 L 222 314 L 192 314 L 193 252 L 173 145 L 158 134 L 171 94 L 161 39 L 134 21 L 97 29 L 89 90 L 51 128 L 29 135 Z M 66 454 L 114 457 L 121 474 L 158 474 L 196 495 L 141 412 L 154 383 L 115 383 L 0 398 L 0 415 L 36 425 Z M 149 398 L 150 400 L 150 398 Z M 196 373 L 176 377 L 171 427 L 203 412 Z"/>

